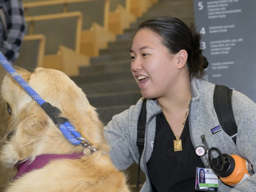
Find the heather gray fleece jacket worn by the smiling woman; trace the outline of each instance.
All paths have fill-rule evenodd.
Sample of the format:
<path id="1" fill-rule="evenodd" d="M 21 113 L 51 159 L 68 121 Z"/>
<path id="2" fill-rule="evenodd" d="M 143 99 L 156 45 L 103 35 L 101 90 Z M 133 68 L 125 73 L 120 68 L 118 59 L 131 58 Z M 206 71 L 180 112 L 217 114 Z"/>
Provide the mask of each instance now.
<path id="1" fill-rule="evenodd" d="M 205 135 L 208 147 L 217 147 L 222 153 L 236 154 L 256 166 L 256 104 L 247 96 L 233 91 L 232 106 L 238 126 L 237 145 L 223 130 L 212 134 L 211 129 L 219 126 L 213 106 L 215 85 L 201 79 L 191 81 L 192 100 L 189 109 L 189 128 L 194 147 L 201 146 L 201 135 Z M 136 146 L 137 122 L 142 108 L 142 99 L 121 114 L 114 115 L 105 127 L 105 137 L 111 146 L 110 156 L 114 165 L 127 169 L 135 161 L 138 164 L 139 151 Z M 141 192 L 151 192 L 146 162 L 151 157 L 155 138 L 155 116 L 161 113 L 157 101 L 148 99 L 146 103 L 145 147 L 142 154 L 141 169 L 146 173 L 146 182 Z M 206 165 L 205 157 L 201 158 Z M 196 174 L 196 173 L 195 173 Z M 219 192 L 256 192 L 256 174 L 245 179 L 241 185 L 231 188 L 219 180 Z"/>

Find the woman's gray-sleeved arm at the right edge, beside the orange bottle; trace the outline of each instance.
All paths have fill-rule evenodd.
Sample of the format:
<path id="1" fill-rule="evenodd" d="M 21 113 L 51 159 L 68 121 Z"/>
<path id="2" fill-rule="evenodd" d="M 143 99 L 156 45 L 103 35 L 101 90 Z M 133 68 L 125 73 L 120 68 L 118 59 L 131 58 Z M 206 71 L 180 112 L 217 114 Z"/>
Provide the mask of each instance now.
<path id="1" fill-rule="evenodd" d="M 236 103 L 236 104 L 235 104 Z M 234 104 L 234 105 L 233 105 Z M 239 154 L 249 160 L 256 169 L 256 104 L 242 93 L 232 96 L 232 107 L 238 126 L 237 149 Z M 239 118 L 241 116 L 241 118 Z M 236 118 L 238 117 L 238 118 Z M 256 174 L 246 178 L 230 192 L 255 192 Z"/>

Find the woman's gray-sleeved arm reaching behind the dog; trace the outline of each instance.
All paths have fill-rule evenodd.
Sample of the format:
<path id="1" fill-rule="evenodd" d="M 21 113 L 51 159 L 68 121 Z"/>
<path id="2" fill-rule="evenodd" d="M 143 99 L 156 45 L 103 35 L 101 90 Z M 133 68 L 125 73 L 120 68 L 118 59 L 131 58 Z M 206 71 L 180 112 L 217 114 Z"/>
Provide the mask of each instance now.
<path id="1" fill-rule="evenodd" d="M 113 119 L 104 128 L 105 138 L 110 145 L 110 157 L 119 170 L 125 170 L 133 164 L 128 130 L 131 108 L 121 114 L 114 115 Z"/>

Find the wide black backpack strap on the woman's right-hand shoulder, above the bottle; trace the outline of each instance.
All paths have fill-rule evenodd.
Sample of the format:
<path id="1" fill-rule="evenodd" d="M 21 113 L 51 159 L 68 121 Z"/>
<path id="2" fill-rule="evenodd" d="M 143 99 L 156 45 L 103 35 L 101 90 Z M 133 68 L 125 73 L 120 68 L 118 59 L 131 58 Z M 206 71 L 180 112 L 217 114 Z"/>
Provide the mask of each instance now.
<path id="1" fill-rule="evenodd" d="M 236 144 L 238 127 L 232 109 L 232 91 L 224 85 L 215 85 L 213 105 L 221 128 Z"/>

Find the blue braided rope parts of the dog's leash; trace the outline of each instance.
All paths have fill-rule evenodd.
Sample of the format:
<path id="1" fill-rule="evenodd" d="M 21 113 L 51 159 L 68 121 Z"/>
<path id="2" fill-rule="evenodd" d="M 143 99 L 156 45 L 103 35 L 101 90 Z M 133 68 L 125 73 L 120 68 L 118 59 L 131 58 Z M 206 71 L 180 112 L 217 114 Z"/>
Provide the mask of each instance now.
<path id="1" fill-rule="evenodd" d="M 21 87 L 41 106 L 44 101 L 41 96 L 37 94 L 25 80 L 15 71 L 15 69 L 7 62 L 5 57 L 0 53 L 0 63 L 3 65 L 5 70 L 20 84 Z M 69 123 L 69 121 L 61 124 L 59 126 L 60 131 L 63 133 L 64 137 L 72 143 L 73 145 L 79 145 L 82 140 L 78 140 L 78 137 L 82 137 L 81 134 L 76 131 L 76 129 Z"/>

